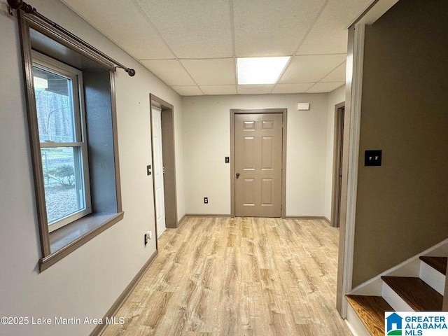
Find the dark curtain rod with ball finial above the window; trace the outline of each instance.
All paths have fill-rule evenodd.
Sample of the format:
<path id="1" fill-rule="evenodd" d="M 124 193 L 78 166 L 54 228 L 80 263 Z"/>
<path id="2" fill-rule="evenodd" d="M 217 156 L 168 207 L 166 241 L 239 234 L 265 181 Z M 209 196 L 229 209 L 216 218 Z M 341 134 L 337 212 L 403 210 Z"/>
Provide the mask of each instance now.
<path id="1" fill-rule="evenodd" d="M 15 10 L 23 10 L 27 14 L 35 15 L 37 18 L 39 18 L 39 19 L 43 20 L 44 22 L 48 23 L 48 25 L 51 25 L 55 29 L 57 29 L 59 31 L 62 31 L 62 33 L 66 34 L 67 36 L 70 36 L 76 42 L 84 45 L 85 47 L 89 48 L 90 50 L 93 50 L 98 55 L 100 55 L 100 56 L 104 57 L 105 59 L 107 59 L 109 62 L 112 62 L 113 64 L 116 64 L 116 66 L 118 68 L 121 68 L 121 69 L 125 70 L 129 76 L 132 77 L 132 76 L 135 75 L 135 70 L 134 69 L 130 69 L 127 66 L 124 66 L 123 64 L 120 64 L 115 59 L 113 59 L 113 58 L 109 57 L 108 55 L 104 54 L 104 52 L 99 51 L 97 48 L 94 48 L 92 45 L 90 45 L 89 43 L 85 42 L 82 38 L 79 38 L 78 36 L 76 36 L 75 34 L 71 33 L 70 31 L 66 30 L 65 28 L 57 25 L 57 23 L 52 22 L 52 20 L 50 20 L 49 18 L 45 17 L 41 13 L 38 13 L 36 8 L 34 8 L 33 6 L 29 5 L 25 1 L 22 1 L 22 0 L 8 0 L 8 5 L 10 6 L 10 8 L 13 8 Z"/>

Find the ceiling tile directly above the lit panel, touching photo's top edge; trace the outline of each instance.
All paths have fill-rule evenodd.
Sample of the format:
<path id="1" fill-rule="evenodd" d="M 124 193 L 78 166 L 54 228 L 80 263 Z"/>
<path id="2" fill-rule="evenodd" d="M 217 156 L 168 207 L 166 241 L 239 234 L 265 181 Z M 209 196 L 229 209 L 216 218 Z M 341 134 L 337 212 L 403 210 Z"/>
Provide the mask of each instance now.
<path id="1" fill-rule="evenodd" d="M 292 55 L 325 0 L 234 0 L 237 57 Z"/>

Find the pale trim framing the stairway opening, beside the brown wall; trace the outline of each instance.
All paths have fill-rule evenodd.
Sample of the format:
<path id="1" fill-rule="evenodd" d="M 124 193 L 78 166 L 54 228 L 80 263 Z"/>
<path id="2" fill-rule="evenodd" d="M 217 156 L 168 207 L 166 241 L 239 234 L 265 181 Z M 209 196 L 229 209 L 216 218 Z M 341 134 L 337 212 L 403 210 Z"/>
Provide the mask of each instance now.
<path id="1" fill-rule="evenodd" d="M 346 318 L 348 302 L 345 295 L 352 289 L 353 278 L 365 25 L 372 25 L 397 2 L 398 0 L 374 0 L 349 26 L 348 31 L 336 290 L 336 308 L 342 318 Z"/>

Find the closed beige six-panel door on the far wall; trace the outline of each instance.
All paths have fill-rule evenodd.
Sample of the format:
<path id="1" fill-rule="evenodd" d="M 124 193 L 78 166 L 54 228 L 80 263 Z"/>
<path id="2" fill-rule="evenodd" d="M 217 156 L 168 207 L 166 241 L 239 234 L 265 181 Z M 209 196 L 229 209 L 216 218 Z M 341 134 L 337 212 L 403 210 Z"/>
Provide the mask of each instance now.
<path id="1" fill-rule="evenodd" d="M 282 139 L 281 113 L 235 115 L 235 216 L 281 217 Z"/>

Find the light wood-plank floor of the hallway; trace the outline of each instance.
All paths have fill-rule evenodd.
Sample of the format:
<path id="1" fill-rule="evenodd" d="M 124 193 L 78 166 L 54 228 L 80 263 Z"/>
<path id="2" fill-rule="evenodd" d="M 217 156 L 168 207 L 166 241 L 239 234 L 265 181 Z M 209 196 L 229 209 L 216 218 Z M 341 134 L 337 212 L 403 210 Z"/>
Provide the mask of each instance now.
<path id="1" fill-rule="evenodd" d="M 186 218 L 103 336 L 349 336 L 338 230 L 321 220 Z"/>

